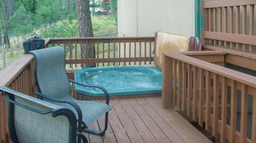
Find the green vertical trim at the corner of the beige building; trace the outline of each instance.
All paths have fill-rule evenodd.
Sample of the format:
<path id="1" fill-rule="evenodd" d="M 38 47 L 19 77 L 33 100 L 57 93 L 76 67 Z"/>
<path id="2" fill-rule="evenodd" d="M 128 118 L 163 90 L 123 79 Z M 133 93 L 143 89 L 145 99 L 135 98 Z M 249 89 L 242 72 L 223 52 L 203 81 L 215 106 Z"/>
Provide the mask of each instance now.
<path id="1" fill-rule="evenodd" d="M 202 39 L 201 31 L 204 30 L 204 13 L 202 12 L 203 0 L 195 0 L 195 37 Z"/>

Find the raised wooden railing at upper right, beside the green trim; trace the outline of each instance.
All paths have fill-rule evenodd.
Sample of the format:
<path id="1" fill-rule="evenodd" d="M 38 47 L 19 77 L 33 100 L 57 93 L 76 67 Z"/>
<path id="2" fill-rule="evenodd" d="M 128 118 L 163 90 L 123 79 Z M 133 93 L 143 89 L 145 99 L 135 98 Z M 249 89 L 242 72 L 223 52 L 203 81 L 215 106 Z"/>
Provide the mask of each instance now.
<path id="1" fill-rule="evenodd" d="M 236 49 L 255 54 L 255 4 L 252 0 L 204 1 L 205 47 L 213 50 Z"/>

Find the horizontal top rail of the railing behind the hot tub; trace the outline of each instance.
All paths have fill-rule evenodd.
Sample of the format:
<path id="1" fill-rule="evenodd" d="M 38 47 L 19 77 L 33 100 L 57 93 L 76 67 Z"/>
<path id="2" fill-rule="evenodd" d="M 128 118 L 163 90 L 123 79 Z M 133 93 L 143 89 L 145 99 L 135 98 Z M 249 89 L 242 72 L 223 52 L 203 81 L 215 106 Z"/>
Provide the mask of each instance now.
<path id="1" fill-rule="evenodd" d="M 53 40 L 104 40 L 104 39 L 155 39 L 155 37 L 77 37 L 77 38 L 50 38 Z"/>

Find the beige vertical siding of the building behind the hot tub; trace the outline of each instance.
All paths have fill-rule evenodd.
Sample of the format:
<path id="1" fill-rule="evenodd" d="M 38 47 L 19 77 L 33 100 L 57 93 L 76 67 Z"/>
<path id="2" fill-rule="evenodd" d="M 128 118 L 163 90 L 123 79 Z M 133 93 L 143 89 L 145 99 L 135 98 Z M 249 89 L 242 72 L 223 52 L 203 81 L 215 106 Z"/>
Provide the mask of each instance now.
<path id="1" fill-rule="evenodd" d="M 157 31 L 195 35 L 195 9 L 191 0 L 118 0 L 118 33 L 154 36 Z"/>

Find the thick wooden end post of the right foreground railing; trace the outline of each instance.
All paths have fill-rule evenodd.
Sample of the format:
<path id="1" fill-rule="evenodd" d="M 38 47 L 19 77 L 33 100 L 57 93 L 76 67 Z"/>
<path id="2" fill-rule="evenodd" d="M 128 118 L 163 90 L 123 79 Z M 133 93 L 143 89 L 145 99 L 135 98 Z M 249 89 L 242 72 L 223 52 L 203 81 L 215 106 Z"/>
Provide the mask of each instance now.
<path id="1" fill-rule="evenodd" d="M 163 55 L 162 69 L 162 107 L 173 107 L 173 59 Z"/>

